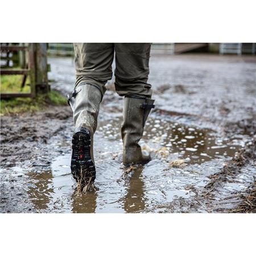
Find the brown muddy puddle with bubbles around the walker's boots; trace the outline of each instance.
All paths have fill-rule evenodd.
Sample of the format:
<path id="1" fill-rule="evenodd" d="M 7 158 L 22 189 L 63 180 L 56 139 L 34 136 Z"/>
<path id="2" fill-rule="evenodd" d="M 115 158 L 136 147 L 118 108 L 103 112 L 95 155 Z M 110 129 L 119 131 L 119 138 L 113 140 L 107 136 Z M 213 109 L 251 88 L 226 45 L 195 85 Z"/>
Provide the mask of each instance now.
<path id="1" fill-rule="evenodd" d="M 142 147 L 153 159 L 133 170 L 122 167 L 120 135 L 122 117 L 100 122 L 94 139 L 97 167 L 96 191 L 78 195 L 69 163 L 71 139 L 52 144 L 60 155 L 51 166 L 18 168 L 28 177 L 27 195 L 38 212 L 144 212 L 177 197 L 194 196 L 208 176 L 241 147 L 239 139 L 217 138 L 212 130 L 196 129 L 149 118 Z"/>

